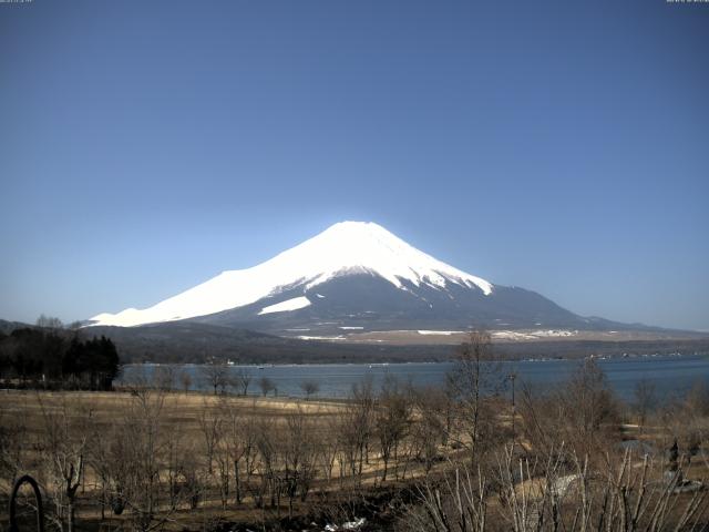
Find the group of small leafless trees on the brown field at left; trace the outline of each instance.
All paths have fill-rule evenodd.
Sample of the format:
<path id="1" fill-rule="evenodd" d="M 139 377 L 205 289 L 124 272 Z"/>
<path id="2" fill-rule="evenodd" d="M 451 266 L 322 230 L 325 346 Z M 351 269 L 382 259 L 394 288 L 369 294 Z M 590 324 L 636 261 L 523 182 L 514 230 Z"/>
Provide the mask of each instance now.
<path id="1" fill-rule="evenodd" d="M 251 508 L 267 519 L 292 515 L 314 491 L 320 504 L 338 493 L 357 498 L 429 471 L 451 440 L 449 398 L 395 379 L 380 392 L 366 380 L 349 401 L 306 399 L 271 413 L 250 408 L 257 396 L 205 395 L 192 419 L 166 406 L 181 396 L 168 391 L 171 376 L 153 378 L 135 383 L 111 418 L 71 393 L 28 396 L 41 411 L 39 427 L 3 416 L 6 488 L 27 472 L 37 478 L 55 530 L 71 532 L 76 515 L 93 515 L 145 532 L 181 511 Z"/>

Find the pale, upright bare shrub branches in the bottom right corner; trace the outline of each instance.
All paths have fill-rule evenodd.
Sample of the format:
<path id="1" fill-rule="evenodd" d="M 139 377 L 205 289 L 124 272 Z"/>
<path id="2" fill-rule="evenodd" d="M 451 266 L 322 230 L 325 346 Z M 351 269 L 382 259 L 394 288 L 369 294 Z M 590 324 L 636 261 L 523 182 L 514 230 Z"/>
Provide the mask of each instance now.
<path id="1" fill-rule="evenodd" d="M 408 530 L 415 532 L 514 532 L 701 530 L 709 511 L 707 492 L 678 498 L 679 474 L 664 482 L 647 456 L 594 469 L 587 458 L 557 448 L 546 461 L 517 458 L 514 447 L 496 453 L 490 481 L 480 471 L 456 467 L 441 480 L 425 479 Z M 496 495 L 493 514 L 490 495 Z M 496 519 L 494 519 L 496 518 Z"/>

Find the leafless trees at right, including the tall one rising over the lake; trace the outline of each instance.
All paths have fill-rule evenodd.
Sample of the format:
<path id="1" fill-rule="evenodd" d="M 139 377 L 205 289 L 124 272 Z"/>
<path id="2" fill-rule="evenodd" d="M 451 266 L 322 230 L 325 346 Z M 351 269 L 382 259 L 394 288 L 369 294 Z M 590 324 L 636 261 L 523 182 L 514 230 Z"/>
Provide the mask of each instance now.
<path id="1" fill-rule="evenodd" d="M 485 379 L 489 389 L 501 381 L 485 372 L 494 365 L 479 365 L 489 348 L 474 336 L 455 375 L 470 459 L 453 458 L 421 482 L 410 530 L 709 530 L 706 383 L 662 403 L 640 381 L 635 401 L 621 405 L 588 359 L 553 390 L 523 387 L 512 411 L 517 430 L 501 441 L 499 412 L 479 396 Z"/>

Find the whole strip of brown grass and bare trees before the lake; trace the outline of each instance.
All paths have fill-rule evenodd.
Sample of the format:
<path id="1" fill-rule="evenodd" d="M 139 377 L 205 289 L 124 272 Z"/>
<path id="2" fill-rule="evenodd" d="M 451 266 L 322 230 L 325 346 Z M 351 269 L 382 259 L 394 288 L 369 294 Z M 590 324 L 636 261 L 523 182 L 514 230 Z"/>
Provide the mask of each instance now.
<path id="1" fill-rule="evenodd" d="M 48 526 L 61 531 L 709 523 L 702 386 L 659 403 L 644 382 L 623 406 L 587 360 L 555 390 L 513 390 L 484 334 L 461 347 L 443 389 L 363 381 L 336 402 L 209 385 L 216 393 L 177 392 L 165 379 L 120 392 L 0 392 L 0 503 L 30 473 Z M 33 498 L 20 494 L 31 525 Z"/>

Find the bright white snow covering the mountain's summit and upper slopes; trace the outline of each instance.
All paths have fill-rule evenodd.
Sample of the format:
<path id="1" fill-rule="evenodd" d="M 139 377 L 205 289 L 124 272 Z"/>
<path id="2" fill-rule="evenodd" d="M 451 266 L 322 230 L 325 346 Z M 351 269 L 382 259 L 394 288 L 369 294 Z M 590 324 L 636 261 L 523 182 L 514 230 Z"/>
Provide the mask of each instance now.
<path id="1" fill-rule="evenodd" d="M 455 284 L 480 289 L 484 295 L 494 289 L 491 283 L 436 260 L 377 224 L 342 222 L 258 266 L 224 272 L 143 310 L 129 308 L 119 314 L 100 314 L 91 318 L 91 325 L 130 327 L 206 316 L 249 305 L 285 289 L 302 286 L 306 290 L 333 277 L 362 273 L 380 276 L 403 290 L 404 282 L 439 289 Z M 301 298 L 296 299 L 294 308 L 270 311 L 307 306 Z M 268 308 L 261 313 L 266 314 Z"/>

